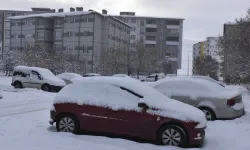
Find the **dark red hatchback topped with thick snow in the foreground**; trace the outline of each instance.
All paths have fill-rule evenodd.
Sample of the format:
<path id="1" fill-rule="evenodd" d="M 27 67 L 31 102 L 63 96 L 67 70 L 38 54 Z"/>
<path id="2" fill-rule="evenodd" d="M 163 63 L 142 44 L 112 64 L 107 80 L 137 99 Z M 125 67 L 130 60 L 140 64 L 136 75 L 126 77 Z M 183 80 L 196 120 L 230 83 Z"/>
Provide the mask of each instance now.
<path id="1" fill-rule="evenodd" d="M 57 131 L 112 133 L 179 147 L 201 145 L 207 124 L 197 108 L 119 77 L 89 77 L 64 87 L 50 114 Z"/>

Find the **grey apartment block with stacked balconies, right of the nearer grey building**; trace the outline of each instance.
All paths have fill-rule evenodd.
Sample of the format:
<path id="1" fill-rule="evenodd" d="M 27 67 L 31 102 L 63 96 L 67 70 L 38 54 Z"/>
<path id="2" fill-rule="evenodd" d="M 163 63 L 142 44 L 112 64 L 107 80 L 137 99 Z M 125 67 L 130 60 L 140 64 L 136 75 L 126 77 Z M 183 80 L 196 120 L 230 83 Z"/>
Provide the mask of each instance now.
<path id="1" fill-rule="evenodd" d="M 131 26 L 131 49 L 137 42 L 144 43 L 146 47 L 157 50 L 159 59 L 170 62 L 172 73 L 177 73 L 181 68 L 184 19 L 136 16 L 135 12 L 120 12 L 114 17 Z"/>

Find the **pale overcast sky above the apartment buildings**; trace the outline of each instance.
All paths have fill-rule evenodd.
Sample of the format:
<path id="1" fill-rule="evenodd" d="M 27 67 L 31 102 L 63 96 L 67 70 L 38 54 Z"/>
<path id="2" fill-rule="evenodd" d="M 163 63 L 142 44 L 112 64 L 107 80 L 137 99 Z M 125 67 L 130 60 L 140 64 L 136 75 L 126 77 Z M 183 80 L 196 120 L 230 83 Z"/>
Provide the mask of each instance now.
<path id="1" fill-rule="evenodd" d="M 190 40 L 200 41 L 208 36 L 222 35 L 223 24 L 244 15 L 250 7 L 249 0 L 0 0 L 0 4 L 0 9 L 50 7 L 69 11 L 69 7 L 82 6 L 85 10 L 99 12 L 106 9 L 109 14 L 135 11 L 137 15 L 183 18 L 184 39 L 188 39 L 184 40 L 184 70 L 187 69 L 187 51 L 192 50 Z"/>

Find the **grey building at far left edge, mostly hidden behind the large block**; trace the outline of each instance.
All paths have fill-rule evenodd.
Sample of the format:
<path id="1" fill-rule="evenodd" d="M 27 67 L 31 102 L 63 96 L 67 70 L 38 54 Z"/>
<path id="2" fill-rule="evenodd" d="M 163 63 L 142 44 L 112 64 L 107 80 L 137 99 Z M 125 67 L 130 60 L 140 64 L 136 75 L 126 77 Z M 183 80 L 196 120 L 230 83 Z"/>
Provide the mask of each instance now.
<path id="1" fill-rule="evenodd" d="M 4 49 L 8 49 L 9 40 L 5 41 L 5 37 L 8 39 L 10 32 L 10 20 L 8 17 L 11 16 L 21 16 L 29 14 L 39 14 L 54 12 L 54 9 L 50 8 L 31 8 L 31 11 L 20 11 L 20 10 L 0 10 L 0 43 L 1 43 L 1 56 L 3 57 Z M 1 58 L 2 58 L 1 57 Z"/>

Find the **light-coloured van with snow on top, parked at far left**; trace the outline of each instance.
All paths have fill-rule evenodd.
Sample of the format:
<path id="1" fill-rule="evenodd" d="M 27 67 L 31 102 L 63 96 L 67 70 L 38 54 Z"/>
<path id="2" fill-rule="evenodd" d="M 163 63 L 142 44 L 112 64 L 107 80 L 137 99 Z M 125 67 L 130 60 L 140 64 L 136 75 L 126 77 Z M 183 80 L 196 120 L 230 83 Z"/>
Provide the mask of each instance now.
<path id="1" fill-rule="evenodd" d="M 66 84 L 50 70 L 39 67 L 17 66 L 12 76 L 15 88 L 38 88 L 43 91 L 60 91 Z"/>

